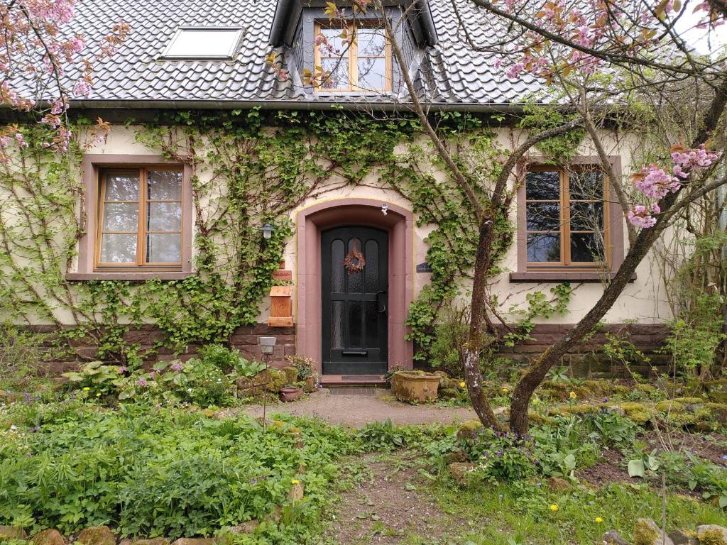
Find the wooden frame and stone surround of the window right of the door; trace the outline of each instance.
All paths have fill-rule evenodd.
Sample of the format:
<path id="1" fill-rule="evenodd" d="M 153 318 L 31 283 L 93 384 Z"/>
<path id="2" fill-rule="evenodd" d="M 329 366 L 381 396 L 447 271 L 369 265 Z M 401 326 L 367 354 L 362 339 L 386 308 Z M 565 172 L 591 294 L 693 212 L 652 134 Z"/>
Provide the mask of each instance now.
<path id="1" fill-rule="evenodd" d="M 611 169 L 616 176 L 621 175 L 621 159 L 619 156 L 610 156 Z M 569 171 L 585 169 L 601 169 L 598 157 L 578 157 L 569 161 L 567 165 L 553 165 L 547 163 L 545 158 L 534 158 L 525 166 L 518 168 L 517 177 L 519 185 L 517 190 L 518 219 L 517 219 L 517 251 L 518 269 L 510 273 L 512 281 L 569 281 L 601 282 L 604 278 L 613 278 L 624 258 L 624 215 L 619 206 L 608 176 L 603 173 L 603 232 L 606 250 L 605 262 L 571 262 L 570 261 L 570 187 Z M 559 262 L 529 262 L 527 235 L 526 203 L 526 174 L 528 171 L 558 171 L 560 175 L 561 227 L 558 233 L 561 237 L 561 260 Z M 566 193 L 566 195 L 563 195 Z M 575 199 L 587 201 L 590 199 Z M 578 233 L 579 231 L 575 231 Z M 584 231 L 585 232 L 585 231 Z"/>

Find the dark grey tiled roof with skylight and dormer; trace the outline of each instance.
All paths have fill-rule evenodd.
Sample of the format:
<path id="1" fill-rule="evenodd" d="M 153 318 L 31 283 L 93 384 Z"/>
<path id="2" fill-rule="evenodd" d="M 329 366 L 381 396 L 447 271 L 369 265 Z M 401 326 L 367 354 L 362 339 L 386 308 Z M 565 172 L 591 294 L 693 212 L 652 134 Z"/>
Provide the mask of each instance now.
<path id="1" fill-rule="evenodd" d="M 486 16 L 471 1 L 457 0 L 459 13 L 471 23 L 470 36 L 487 31 Z M 81 0 L 71 33 L 98 43 L 119 20 L 131 30 L 115 55 L 96 61 L 92 92 L 84 106 L 138 105 L 204 107 L 269 105 L 329 107 L 333 102 L 406 101 L 406 97 L 323 95 L 304 92 L 281 81 L 266 65 L 270 31 L 278 0 Z M 510 80 L 494 66 L 491 55 L 465 44 L 449 1 L 431 2 L 438 41 L 424 49 L 417 82 L 427 99 L 462 108 L 491 108 L 521 101 L 535 89 L 534 81 Z M 492 17 L 489 15 L 489 17 Z M 233 60 L 160 60 L 161 52 L 180 26 L 239 26 L 243 36 Z M 491 28 L 490 28 L 491 31 Z"/>

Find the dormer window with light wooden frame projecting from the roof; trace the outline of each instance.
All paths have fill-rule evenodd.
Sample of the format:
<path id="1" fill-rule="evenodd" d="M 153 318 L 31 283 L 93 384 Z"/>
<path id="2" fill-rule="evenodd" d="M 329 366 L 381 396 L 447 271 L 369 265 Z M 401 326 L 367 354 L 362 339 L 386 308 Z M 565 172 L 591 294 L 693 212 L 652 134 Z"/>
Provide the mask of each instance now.
<path id="1" fill-rule="evenodd" d="M 317 91 L 391 90 L 391 47 L 382 26 L 360 20 L 343 28 L 318 22 L 315 32 L 316 67 L 323 71 Z"/>

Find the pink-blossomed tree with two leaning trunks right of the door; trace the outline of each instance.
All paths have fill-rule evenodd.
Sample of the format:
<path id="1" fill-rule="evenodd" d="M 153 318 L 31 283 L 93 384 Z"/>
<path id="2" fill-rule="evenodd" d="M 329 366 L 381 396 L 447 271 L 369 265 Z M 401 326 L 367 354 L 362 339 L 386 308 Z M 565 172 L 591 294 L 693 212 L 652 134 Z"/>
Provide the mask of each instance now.
<path id="1" fill-rule="evenodd" d="M 340 9 L 329 2 L 326 12 L 342 29 L 337 45 L 318 39 L 325 57 L 345 55 L 356 41 L 346 25 L 358 14 L 375 10 L 385 28 L 393 57 L 409 96 L 401 105 L 411 108 L 452 181 L 467 196 L 479 224 L 473 270 L 470 329 L 465 347 L 465 382 L 475 412 L 483 424 L 499 428 L 499 422 L 483 392 L 481 355 L 497 342 L 497 304 L 489 293 L 489 275 L 497 265 L 495 249 L 505 243 L 507 233 L 496 226 L 510 217 L 513 189 L 523 183 L 515 167 L 526 163 L 534 146 L 579 130 L 587 134 L 598 153 L 601 169 L 627 218 L 629 248 L 619 270 L 604 278 L 603 294 L 577 325 L 536 358 L 516 384 L 510 407 L 510 429 L 525 433 L 528 406 L 534 390 L 547 371 L 589 334 L 622 294 L 636 267 L 670 225 L 691 203 L 727 183 L 718 171 L 723 157 L 727 104 L 725 57 L 698 55 L 688 44 L 683 20 L 696 17 L 693 26 L 713 31 L 725 23 L 727 4 L 721 0 L 451 0 L 459 17 L 462 9 L 478 7 L 465 20 L 459 17 L 460 36 L 468 47 L 497 59 L 496 69 L 508 78 L 535 78 L 544 92 L 532 97 L 556 120 L 540 130 L 530 130 L 526 139 L 503 159 L 502 169 L 489 186 L 478 182 L 478 173 L 467 171 L 457 161 L 445 137 L 433 126 L 429 105 L 417 92 L 401 48 L 395 40 L 398 29 L 382 17 L 382 0 L 355 1 Z M 409 9 L 416 9 L 412 2 Z M 401 20 L 406 19 L 406 13 Z M 484 32 L 470 33 L 470 25 L 483 21 Z M 399 23 L 401 24 L 401 23 Z M 482 30 L 482 29 L 481 29 Z M 474 36 L 478 36 L 475 39 Z M 481 40 L 481 41 L 477 41 Z M 275 57 L 271 62 L 275 63 Z M 337 67 L 316 66 L 302 74 L 305 84 L 325 85 Z M 278 66 L 281 77 L 287 77 Z M 391 99 L 391 97 L 389 97 Z M 685 102 L 686 100 L 686 102 Z M 614 120 L 648 110 L 648 123 L 655 134 L 644 156 L 653 158 L 633 174 L 616 176 L 608 161 L 603 129 Z M 678 119 L 668 124 L 666 118 Z M 606 131 L 607 132 L 607 131 Z M 684 143 L 688 142 L 688 143 Z"/>

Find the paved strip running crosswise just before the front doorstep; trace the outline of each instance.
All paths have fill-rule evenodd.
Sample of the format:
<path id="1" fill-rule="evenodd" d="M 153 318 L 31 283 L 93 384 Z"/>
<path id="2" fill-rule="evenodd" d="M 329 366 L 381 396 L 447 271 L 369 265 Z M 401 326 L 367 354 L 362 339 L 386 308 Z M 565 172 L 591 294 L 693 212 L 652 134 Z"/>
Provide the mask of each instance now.
<path id="1" fill-rule="evenodd" d="M 438 405 L 407 405 L 395 400 L 386 389 L 371 394 L 330 393 L 326 389 L 294 403 L 268 405 L 268 414 L 290 413 L 294 416 L 321 416 L 332 424 L 363 427 L 369 422 L 391 419 L 394 424 L 428 424 L 463 422 L 477 418 L 471 408 Z M 242 412 L 259 418 L 262 405 L 247 405 Z"/>

